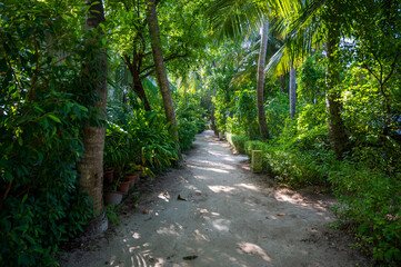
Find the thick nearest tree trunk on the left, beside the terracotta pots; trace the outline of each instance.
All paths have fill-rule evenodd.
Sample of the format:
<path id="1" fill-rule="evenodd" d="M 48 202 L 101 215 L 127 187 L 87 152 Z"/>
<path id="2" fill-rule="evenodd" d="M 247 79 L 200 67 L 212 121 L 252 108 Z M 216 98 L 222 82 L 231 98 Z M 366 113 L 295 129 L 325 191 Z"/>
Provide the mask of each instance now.
<path id="1" fill-rule="evenodd" d="M 103 32 L 98 26 L 104 21 L 102 1 L 90 0 L 89 17 L 87 18 L 86 27 L 96 29 L 98 32 L 96 38 L 88 40 L 92 46 L 100 47 Z M 99 96 L 99 101 L 93 102 L 94 108 L 106 109 L 107 100 L 107 73 L 108 61 L 106 51 L 100 49 L 99 55 L 94 55 L 90 62 L 87 62 L 88 73 L 84 73 L 92 82 L 91 87 L 96 88 Z M 104 116 L 100 112 L 99 116 Z M 108 228 L 108 220 L 104 214 L 103 205 L 103 148 L 104 148 L 104 127 L 91 126 L 89 121 L 86 122 L 82 131 L 83 141 L 83 157 L 78 164 L 78 171 L 80 174 L 80 185 L 89 197 L 93 200 L 93 211 L 98 215 L 87 227 L 87 234 L 97 235 Z"/>

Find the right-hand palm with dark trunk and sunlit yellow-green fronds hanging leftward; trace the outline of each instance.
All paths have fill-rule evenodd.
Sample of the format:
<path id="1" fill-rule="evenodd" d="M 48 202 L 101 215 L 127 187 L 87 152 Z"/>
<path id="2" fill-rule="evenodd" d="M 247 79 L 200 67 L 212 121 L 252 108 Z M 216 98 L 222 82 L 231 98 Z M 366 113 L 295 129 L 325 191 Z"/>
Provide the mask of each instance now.
<path id="1" fill-rule="evenodd" d="M 275 1 L 275 0 L 274 0 Z M 338 158 L 349 150 L 349 138 L 341 118 L 341 99 L 338 89 L 340 79 L 339 43 L 341 33 L 340 7 L 344 3 L 334 0 L 282 0 L 275 1 L 275 7 L 287 20 L 287 39 L 275 57 L 280 57 L 285 49 L 291 49 L 294 58 L 302 58 L 313 48 L 325 44 L 327 65 L 327 112 L 330 145 Z M 281 55 L 281 56 L 280 56 Z M 272 63 L 274 65 L 274 63 Z"/>

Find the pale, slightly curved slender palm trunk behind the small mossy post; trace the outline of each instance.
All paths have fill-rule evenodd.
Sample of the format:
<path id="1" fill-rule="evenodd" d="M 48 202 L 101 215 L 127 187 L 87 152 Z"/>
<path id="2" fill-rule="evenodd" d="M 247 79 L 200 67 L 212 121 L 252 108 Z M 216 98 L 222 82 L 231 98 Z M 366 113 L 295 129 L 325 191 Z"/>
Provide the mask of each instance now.
<path id="1" fill-rule="evenodd" d="M 264 65 L 265 53 L 268 49 L 268 33 L 269 24 L 264 21 L 262 27 L 262 40 L 260 42 L 259 62 L 258 62 L 258 81 L 257 81 L 257 106 L 258 106 L 258 121 L 259 130 L 262 140 L 269 139 L 268 125 L 265 123 L 264 115 Z"/>

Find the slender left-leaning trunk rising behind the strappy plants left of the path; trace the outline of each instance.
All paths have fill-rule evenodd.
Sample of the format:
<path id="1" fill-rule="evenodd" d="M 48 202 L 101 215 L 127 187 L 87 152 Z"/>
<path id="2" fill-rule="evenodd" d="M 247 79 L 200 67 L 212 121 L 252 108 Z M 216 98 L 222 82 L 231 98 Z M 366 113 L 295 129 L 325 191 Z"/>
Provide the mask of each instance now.
<path id="1" fill-rule="evenodd" d="M 156 12 L 158 0 L 147 0 L 147 22 L 149 26 L 149 33 L 152 46 L 153 60 L 156 66 L 156 75 L 158 78 L 158 86 L 163 98 L 166 119 L 171 127 L 177 129 L 174 103 L 171 97 L 170 85 L 167 78 L 163 53 L 161 51 L 161 39 L 159 30 L 158 14 Z M 178 130 L 174 132 L 177 142 L 179 142 Z M 181 159 L 181 151 L 179 150 L 179 158 Z"/>

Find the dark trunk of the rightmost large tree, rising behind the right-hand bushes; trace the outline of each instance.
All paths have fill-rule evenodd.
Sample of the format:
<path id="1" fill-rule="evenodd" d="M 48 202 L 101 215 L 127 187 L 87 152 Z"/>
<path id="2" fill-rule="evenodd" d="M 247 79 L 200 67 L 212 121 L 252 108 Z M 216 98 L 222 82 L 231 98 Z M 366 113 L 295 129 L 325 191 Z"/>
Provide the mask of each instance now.
<path id="1" fill-rule="evenodd" d="M 337 87 L 340 82 L 340 57 L 338 55 L 340 41 L 339 27 L 338 18 L 332 18 L 328 27 L 329 33 L 327 41 L 328 66 L 325 70 L 325 108 L 328 112 L 330 146 L 334 150 L 337 158 L 341 159 L 343 154 L 349 149 L 349 141 L 345 134 L 345 127 L 341 119 L 341 92 Z"/>

